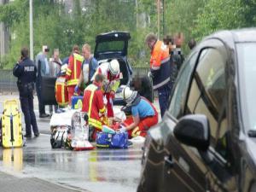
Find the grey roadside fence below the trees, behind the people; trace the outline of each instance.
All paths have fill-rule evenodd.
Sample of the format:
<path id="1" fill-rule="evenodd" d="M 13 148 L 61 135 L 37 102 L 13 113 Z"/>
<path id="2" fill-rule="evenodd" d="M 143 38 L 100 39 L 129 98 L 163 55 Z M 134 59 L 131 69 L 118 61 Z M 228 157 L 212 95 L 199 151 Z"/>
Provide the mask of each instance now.
<path id="1" fill-rule="evenodd" d="M 143 76 L 147 75 L 148 67 L 134 67 L 132 68 L 133 75 Z M 17 92 L 17 79 L 13 75 L 12 70 L 0 70 L 0 93 L 13 93 Z"/>

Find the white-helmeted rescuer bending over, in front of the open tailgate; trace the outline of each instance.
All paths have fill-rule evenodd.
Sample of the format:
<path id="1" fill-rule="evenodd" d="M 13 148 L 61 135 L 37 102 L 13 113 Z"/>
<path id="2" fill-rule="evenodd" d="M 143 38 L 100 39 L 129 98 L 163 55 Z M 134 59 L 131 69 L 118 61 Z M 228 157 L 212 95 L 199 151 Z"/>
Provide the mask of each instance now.
<path id="1" fill-rule="evenodd" d="M 119 88 L 120 80 L 119 80 L 119 61 L 113 59 L 110 62 L 103 62 L 97 69 L 96 74 L 102 74 L 105 77 L 103 82 L 103 91 L 104 96 L 107 98 L 107 111 L 108 118 L 113 118 L 113 98 L 115 92 Z M 95 75 L 92 77 L 94 79 Z"/>

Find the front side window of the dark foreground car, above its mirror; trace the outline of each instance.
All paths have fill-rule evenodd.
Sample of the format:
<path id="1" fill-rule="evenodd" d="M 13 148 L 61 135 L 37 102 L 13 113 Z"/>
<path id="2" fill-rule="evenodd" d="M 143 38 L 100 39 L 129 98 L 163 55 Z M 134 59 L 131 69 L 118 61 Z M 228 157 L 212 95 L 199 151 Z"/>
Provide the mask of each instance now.
<path id="1" fill-rule="evenodd" d="M 225 64 L 226 57 L 218 49 L 204 49 L 192 79 L 186 105 L 186 113 L 201 113 L 207 116 L 212 144 L 217 142 L 218 118 L 224 103 Z"/>

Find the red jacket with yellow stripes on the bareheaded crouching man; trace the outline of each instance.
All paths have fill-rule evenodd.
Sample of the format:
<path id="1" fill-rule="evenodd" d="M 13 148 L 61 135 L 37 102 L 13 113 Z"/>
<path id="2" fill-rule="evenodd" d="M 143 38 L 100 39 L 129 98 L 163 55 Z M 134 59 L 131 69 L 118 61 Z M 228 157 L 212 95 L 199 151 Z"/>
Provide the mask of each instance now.
<path id="1" fill-rule="evenodd" d="M 103 102 L 102 90 L 96 82 L 88 85 L 84 90 L 82 112 L 88 113 L 89 125 L 93 125 L 96 129 L 102 130 L 102 121 L 99 113 L 105 113 L 106 108 Z"/>

